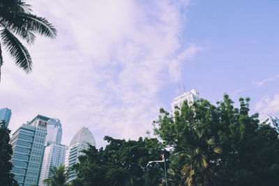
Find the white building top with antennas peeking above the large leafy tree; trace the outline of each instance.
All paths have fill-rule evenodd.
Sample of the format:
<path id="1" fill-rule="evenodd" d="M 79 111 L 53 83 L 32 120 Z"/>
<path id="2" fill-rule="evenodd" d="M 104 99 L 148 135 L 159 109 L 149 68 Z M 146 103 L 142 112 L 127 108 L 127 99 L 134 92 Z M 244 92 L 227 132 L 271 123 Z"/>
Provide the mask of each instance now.
<path id="1" fill-rule="evenodd" d="M 188 104 L 193 104 L 195 101 L 199 100 L 199 92 L 195 89 L 190 92 L 184 92 L 182 95 L 174 98 L 174 102 L 172 102 L 172 114 L 174 114 L 174 107 L 182 107 L 184 101 L 188 101 Z"/>

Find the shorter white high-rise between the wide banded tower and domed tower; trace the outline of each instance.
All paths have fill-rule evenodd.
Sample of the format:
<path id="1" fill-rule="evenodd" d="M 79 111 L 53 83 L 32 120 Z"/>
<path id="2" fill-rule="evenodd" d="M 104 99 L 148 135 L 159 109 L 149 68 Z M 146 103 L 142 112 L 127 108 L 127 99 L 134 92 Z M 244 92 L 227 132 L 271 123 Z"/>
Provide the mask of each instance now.
<path id="1" fill-rule="evenodd" d="M 67 147 L 60 144 L 50 144 L 45 147 L 42 169 L 40 170 L 40 186 L 43 185 L 45 178 L 52 176 L 50 169 L 54 168 L 54 166 L 59 167 L 60 164 L 64 164 L 66 150 Z"/>

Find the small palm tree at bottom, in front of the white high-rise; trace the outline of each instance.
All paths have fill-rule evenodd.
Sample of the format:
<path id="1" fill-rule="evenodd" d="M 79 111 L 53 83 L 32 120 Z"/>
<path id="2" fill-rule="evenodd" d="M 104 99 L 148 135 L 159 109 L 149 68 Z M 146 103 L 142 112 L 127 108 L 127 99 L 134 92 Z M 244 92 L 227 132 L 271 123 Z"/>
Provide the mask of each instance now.
<path id="1" fill-rule="evenodd" d="M 52 177 L 43 180 L 44 184 L 48 186 L 67 185 L 68 173 L 64 165 L 60 164 L 58 168 L 54 166 L 54 168 L 50 169 L 50 172 L 52 173 Z"/>

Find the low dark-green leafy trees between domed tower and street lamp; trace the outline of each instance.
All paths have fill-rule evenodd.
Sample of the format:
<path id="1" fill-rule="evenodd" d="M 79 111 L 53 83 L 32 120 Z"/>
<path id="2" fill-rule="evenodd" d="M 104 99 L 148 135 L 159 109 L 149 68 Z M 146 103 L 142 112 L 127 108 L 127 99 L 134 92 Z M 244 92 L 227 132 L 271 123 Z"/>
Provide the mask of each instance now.
<path id="1" fill-rule="evenodd" d="M 162 153 L 168 155 L 157 139 L 138 141 L 105 137 L 105 149 L 89 146 L 75 164 L 78 185 L 158 185 L 164 176 L 163 166 L 151 164 Z"/>

